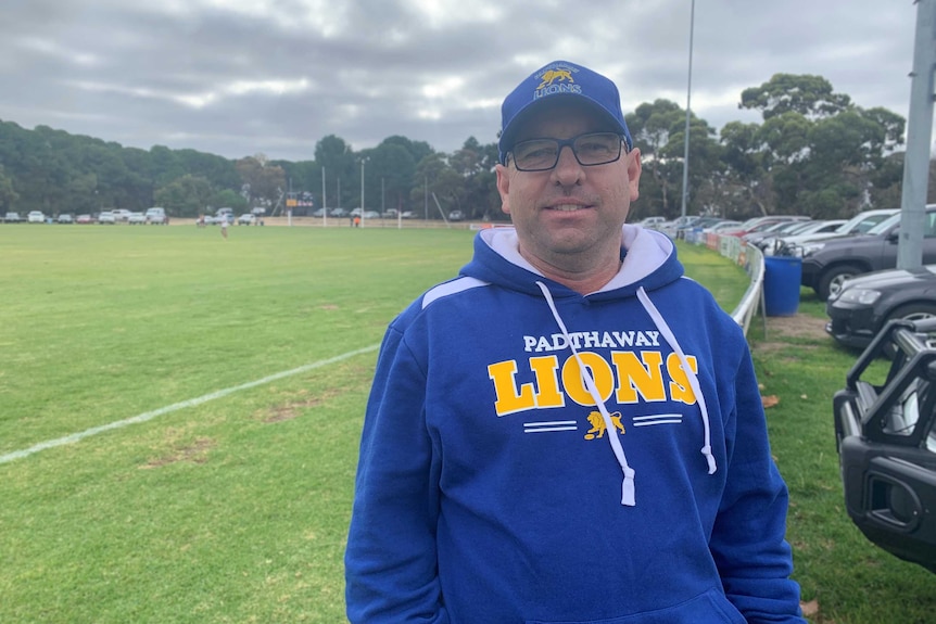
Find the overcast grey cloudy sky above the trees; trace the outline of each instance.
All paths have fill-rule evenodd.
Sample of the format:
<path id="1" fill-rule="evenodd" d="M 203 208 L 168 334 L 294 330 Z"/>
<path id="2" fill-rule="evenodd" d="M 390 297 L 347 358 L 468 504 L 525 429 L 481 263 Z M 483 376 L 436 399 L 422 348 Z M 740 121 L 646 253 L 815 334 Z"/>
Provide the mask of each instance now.
<path id="1" fill-rule="evenodd" d="M 150 149 L 314 158 L 389 136 L 496 141 L 504 95 L 554 60 L 590 66 L 624 113 L 685 106 L 692 0 L 0 0 L 0 119 Z M 741 92 L 818 74 L 909 112 L 912 0 L 698 0 L 692 109 L 758 122 Z"/>

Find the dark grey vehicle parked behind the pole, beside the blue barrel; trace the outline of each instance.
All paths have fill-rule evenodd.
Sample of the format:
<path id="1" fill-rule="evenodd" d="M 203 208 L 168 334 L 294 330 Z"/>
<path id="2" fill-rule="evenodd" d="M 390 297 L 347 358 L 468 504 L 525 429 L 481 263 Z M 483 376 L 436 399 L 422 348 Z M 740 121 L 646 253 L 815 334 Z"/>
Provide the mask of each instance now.
<path id="1" fill-rule="evenodd" d="M 900 213 L 881 221 L 865 234 L 832 238 L 802 245 L 801 283 L 823 300 L 837 293 L 845 280 L 897 267 Z M 924 265 L 936 264 L 936 204 L 926 206 L 923 226 Z"/>

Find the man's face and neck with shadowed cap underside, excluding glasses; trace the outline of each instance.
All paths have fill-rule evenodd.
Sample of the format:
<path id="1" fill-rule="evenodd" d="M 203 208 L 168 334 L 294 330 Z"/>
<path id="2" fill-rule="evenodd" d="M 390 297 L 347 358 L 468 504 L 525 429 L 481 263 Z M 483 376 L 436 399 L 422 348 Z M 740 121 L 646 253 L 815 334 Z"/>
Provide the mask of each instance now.
<path id="1" fill-rule="evenodd" d="M 585 132 L 614 131 L 587 109 L 567 102 L 544 104 L 523 123 L 517 141 L 569 139 Z M 562 148 L 556 167 L 518 171 L 513 157 L 497 166 L 502 208 L 510 215 L 520 253 L 541 270 L 587 270 L 620 253 L 621 226 L 637 199 L 640 152 L 619 161 L 583 167 L 571 148 Z"/>

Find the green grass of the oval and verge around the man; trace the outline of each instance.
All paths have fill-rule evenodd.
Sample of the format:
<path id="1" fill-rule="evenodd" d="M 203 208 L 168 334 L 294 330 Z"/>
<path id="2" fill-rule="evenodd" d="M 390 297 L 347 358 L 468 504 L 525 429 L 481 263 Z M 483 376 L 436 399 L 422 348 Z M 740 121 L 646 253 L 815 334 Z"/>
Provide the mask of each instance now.
<path id="1" fill-rule="evenodd" d="M 230 230 L 0 226 L 0 623 L 345 622 L 376 347 L 473 234 Z M 733 309 L 744 272 L 680 253 Z M 760 327 L 811 621 L 936 621 L 934 575 L 868 544 L 843 509 L 831 396 L 855 354 Z"/>

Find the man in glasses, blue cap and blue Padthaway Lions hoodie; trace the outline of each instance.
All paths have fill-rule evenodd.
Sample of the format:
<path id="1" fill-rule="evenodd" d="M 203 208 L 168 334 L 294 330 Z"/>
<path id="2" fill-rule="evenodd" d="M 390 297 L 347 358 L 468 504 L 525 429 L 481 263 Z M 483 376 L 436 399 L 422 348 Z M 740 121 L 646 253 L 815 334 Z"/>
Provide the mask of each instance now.
<path id="1" fill-rule="evenodd" d="M 514 228 L 381 347 L 349 620 L 804 622 L 745 336 L 668 238 L 624 225 L 617 88 L 555 62 L 502 115 Z"/>

